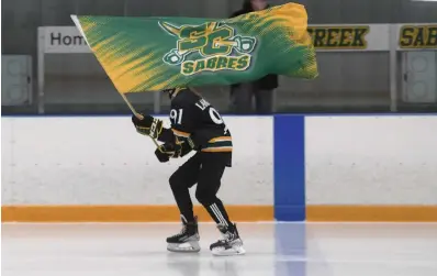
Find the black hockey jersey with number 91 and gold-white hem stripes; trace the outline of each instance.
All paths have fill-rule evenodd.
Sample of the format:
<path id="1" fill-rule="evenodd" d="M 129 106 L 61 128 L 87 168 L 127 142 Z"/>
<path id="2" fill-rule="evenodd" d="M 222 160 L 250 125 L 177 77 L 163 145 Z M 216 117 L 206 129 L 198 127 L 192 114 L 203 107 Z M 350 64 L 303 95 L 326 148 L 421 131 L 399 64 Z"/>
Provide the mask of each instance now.
<path id="1" fill-rule="evenodd" d="M 217 110 L 188 88 L 177 89 L 171 98 L 170 122 L 179 141 L 191 140 L 195 151 L 232 152 L 232 136 Z M 163 133 L 164 134 L 164 133 Z M 168 137 L 159 137 L 168 142 Z"/>

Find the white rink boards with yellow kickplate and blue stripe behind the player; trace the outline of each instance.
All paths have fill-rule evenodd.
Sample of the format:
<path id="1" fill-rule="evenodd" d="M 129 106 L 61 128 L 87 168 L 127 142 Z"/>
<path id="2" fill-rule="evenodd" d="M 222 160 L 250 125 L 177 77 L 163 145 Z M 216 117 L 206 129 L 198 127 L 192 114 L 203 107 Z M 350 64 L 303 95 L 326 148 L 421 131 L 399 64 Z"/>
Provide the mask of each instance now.
<path id="1" fill-rule="evenodd" d="M 437 221 L 435 114 L 225 121 L 236 221 Z M 2 221 L 179 219 L 168 178 L 183 161 L 158 163 L 130 117 L 2 117 L 1 142 Z"/>

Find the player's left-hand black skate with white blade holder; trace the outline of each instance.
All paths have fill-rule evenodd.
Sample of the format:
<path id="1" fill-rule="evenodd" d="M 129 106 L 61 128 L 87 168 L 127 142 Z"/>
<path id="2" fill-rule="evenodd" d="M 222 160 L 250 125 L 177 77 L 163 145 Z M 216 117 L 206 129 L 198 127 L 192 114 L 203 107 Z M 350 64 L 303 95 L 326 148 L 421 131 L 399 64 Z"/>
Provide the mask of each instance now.
<path id="1" fill-rule="evenodd" d="M 167 238 L 167 250 L 171 252 L 199 252 L 199 231 L 198 231 L 198 218 L 194 218 L 193 222 L 188 222 L 183 216 L 182 230 L 179 234 Z"/>

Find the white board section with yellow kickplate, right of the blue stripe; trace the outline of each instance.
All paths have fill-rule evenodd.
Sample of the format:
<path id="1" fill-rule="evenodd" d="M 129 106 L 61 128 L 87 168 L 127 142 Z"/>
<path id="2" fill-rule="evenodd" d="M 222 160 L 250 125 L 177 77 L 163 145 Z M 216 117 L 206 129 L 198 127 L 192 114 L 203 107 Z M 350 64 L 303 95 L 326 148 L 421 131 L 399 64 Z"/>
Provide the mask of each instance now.
<path id="1" fill-rule="evenodd" d="M 437 115 L 307 117 L 306 218 L 437 221 Z"/>

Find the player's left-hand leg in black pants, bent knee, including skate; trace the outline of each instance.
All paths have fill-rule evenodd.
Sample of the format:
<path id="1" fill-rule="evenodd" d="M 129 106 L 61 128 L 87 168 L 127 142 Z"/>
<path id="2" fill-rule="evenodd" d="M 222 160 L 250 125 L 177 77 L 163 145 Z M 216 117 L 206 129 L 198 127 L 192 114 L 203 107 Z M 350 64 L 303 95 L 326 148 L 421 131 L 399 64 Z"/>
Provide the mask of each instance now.
<path id="1" fill-rule="evenodd" d="M 200 154 L 197 153 L 180 166 L 170 177 L 170 187 L 173 192 L 182 220 L 180 233 L 167 238 L 167 250 L 172 252 L 199 252 L 198 221 L 193 213 L 193 203 L 190 198 L 189 188 L 199 177 Z"/>

